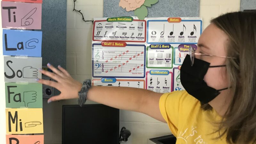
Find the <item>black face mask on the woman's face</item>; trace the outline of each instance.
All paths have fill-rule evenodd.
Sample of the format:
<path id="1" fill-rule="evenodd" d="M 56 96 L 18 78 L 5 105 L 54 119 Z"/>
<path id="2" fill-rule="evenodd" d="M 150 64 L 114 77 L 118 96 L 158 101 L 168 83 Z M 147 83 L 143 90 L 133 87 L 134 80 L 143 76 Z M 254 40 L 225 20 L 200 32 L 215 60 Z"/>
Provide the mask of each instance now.
<path id="1" fill-rule="evenodd" d="M 225 66 L 210 66 L 209 62 L 196 58 L 194 59 L 193 66 L 191 66 L 190 56 L 187 54 L 180 68 L 180 82 L 190 95 L 201 103 L 206 104 L 216 98 L 220 94 L 220 91 L 228 88 L 216 90 L 205 83 L 204 76 L 208 68 Z"/>

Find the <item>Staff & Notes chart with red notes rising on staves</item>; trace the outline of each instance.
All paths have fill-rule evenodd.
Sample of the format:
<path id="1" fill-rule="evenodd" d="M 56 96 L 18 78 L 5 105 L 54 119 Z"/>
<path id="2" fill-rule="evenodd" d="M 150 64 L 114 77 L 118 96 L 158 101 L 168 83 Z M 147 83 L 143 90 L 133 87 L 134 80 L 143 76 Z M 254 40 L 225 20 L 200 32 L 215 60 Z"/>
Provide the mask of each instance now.
<path id="1" fill-rule="evenodd" d="M 93 77 L 145 77 L 145 45 L 93 44 L 92 51 Z"/>

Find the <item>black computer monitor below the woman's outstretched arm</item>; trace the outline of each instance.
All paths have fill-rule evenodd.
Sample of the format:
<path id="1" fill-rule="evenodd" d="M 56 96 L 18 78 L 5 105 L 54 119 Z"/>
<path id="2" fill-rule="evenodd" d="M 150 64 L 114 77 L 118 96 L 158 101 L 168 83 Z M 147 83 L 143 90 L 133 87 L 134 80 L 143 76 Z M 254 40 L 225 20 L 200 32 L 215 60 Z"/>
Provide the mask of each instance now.
<path id="1" fill-rule="evenodd" d="M 63 105 L 62 144 L 118 144 L 119 109 L 102 104 Z"/>

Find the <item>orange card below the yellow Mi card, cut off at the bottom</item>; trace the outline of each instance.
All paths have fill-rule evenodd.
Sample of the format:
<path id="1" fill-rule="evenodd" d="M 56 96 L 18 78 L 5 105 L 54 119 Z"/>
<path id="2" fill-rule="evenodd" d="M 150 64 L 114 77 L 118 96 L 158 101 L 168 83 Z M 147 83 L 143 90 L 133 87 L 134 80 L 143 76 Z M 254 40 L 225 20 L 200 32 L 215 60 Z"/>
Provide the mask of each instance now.
<path id="1" fill-rule="evenodd" d="M 44 135 L 6 135 L 6 144 L 44 144 Z"/>

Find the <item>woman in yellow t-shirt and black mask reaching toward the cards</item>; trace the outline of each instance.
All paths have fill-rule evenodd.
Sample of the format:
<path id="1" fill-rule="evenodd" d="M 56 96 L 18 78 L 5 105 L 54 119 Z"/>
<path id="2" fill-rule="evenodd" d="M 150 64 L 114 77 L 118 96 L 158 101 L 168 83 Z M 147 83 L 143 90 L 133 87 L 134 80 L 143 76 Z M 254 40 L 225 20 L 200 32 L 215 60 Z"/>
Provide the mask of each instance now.
<path id="1" fill-rule="evenodd" d="M 92 86 L 74 80 L 58 66 L 41 70 L 60 90 L 48 100 L 96 101 L 147 114 L 167 123 L 178 144 L 256 143 L 256 13 L 233 12 L 212 20 L 181 66 L 186 91 Z M 81 89 L 82 87 L 82 89 Z M 88 92 L 88 93 L 87 93 Z"/>

